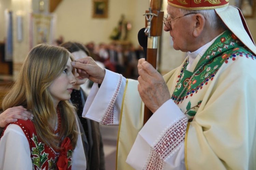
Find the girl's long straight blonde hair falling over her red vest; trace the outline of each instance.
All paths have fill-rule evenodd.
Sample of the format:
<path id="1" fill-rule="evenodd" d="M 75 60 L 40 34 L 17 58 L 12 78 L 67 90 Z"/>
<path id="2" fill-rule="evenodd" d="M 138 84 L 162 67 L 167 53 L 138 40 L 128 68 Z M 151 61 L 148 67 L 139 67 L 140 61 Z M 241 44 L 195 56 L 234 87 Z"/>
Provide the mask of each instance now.
<path id="1" fill-rule="evenodd" d="M 60 101 L 61 127 L 56 136 L 49 126 L 57 119 L 49 85 L 65 69 L 71 54 L 63 47 L 40 44 L 35 46 L 23 63 L 17 80 L 4 97 L 3 110 L 22 105 L 32 112 L 35 129 L 40 139 L 54 149 L 59 149 L 62 137 L 69 137 L 73 149 L 77 141 L 75 110 L 68 101 Z"/>

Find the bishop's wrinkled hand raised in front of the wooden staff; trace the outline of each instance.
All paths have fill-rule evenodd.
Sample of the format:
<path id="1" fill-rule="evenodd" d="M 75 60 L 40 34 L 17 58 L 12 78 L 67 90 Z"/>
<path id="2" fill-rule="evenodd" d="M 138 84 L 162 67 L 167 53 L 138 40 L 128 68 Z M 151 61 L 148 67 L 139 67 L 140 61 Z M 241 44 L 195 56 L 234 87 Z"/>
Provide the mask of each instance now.
<path id="1" fill-rule="evenodd" d="M 162 75 L 144 58 L 138 62 L 138 91 L 144 104 L 155 113 L 167 100 L 171 99 L 169 89 Z"/>

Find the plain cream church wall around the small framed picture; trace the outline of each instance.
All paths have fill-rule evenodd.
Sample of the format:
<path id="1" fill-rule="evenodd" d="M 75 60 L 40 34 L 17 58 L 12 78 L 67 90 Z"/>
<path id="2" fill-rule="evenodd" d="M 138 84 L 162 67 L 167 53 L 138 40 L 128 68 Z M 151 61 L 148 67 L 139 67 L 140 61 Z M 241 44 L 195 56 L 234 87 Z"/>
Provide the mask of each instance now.
<path id="1" fill-rule="evenodd" d="M 65 41 L 109 43 L 112 30 L 124 14 L 132 24 L 128 40 L 136 45 L 138 31 L 145 25 L 143 14 L 148 7 L 149 0 L 109 0 L 108 18 L 92 18 L 92 0 L 62 0 L 54 12 L 57 18 L 55 37 L 62 35 Z"/>

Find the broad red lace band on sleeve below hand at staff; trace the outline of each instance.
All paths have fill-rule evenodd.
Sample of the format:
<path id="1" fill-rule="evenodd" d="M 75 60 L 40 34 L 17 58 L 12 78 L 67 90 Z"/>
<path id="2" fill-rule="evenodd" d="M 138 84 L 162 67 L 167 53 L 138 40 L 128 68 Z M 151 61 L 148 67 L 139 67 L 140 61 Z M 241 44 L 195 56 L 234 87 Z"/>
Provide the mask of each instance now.
<path id="1" fill-rule="evenodd" d="M 163 160 L 169 156 L 185 139 L 187 118 L 184 117 L 172 125 L 152 149 L 146 169 L 160 170 Z"/>

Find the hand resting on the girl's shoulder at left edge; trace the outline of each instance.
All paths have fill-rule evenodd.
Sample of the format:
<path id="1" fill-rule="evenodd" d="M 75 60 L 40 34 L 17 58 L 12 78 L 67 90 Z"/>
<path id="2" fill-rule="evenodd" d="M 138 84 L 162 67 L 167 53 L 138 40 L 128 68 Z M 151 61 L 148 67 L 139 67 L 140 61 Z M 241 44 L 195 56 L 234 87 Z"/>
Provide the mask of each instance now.
<path id="1" fill-rule="evenodd" d="M 23 106 L 16 106 L 6 109 L 0 114 L 0 127 L 4 128 L 6 124 L 16 122 L 18 119 L 32 120 L 32 113 L 28 112 Z"/>

